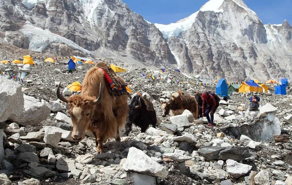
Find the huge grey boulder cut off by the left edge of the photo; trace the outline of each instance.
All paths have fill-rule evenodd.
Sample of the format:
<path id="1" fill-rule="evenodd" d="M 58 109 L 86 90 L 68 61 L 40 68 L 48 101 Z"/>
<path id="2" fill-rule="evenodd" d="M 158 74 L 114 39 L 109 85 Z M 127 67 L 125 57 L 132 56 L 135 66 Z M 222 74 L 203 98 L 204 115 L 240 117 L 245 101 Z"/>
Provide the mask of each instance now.
<path id="1" fill-rule="evenodd" d="M 24 100 L 20 84 L 1 76 L 0 81 L 0 122 L 4 122 L 21 115 Z"/>

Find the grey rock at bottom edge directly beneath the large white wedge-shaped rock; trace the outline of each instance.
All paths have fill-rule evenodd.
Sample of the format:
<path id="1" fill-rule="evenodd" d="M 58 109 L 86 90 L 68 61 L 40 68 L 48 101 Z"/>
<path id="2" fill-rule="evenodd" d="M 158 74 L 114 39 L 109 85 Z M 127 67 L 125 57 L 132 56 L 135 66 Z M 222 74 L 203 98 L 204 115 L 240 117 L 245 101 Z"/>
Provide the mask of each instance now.
<path id="1" fill-rule="evenodd" d="M 127 180 L 134 182 L 133 185 L 156 185 L 156 178 L 145 174 L 127 173 Z"/>

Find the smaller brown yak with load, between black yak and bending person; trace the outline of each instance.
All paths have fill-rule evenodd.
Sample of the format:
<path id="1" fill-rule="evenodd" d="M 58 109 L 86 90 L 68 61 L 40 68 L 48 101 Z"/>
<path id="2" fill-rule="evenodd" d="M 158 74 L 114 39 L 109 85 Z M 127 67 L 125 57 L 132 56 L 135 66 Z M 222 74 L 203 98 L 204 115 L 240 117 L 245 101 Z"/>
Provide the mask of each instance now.
<path id="1" fill-rule="evenodd" d="M 185 109 L 189 110 L 194 118 L 198 118 L 199 109 L 195 97 L 183 93 L 181 90 L 172 93 L 168 102 L 160 102 L 162 108 L 162 117 L 170 113 L 170 116 L 177 116 L 183 114 Z"/>

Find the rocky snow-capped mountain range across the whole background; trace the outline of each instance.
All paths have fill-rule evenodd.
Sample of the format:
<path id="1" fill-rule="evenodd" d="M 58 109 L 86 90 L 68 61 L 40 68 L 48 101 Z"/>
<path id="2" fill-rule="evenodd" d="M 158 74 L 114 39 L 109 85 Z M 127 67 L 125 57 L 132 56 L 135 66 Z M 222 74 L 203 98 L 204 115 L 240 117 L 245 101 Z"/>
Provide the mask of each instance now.
<path id="1" fill-rule="evenodd" d="M 205 82 L 292 76 L 291 25 L 263 25 L 242 0 L 210 0 L 169 25 L 146 21 L 121 0 L 0 0 L 0 28 L 6 48 L 114 56 L 195 71 Z"/>

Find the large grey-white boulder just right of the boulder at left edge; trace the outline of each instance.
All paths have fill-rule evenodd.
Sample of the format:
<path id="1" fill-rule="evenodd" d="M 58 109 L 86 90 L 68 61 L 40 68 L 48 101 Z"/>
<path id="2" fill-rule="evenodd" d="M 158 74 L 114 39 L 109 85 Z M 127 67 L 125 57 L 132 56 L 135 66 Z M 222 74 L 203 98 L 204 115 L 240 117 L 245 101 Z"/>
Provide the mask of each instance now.
<path id="1" fill-rule="evenodd" d="M 50 116 L 51 110 L 44 103 L 34 97 L 23 95 L 24 109 L 20 116 L 11 118 L 19 125 L 39 125 L 41 121 Z"/>

